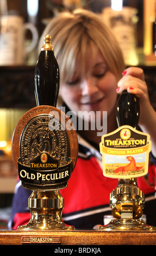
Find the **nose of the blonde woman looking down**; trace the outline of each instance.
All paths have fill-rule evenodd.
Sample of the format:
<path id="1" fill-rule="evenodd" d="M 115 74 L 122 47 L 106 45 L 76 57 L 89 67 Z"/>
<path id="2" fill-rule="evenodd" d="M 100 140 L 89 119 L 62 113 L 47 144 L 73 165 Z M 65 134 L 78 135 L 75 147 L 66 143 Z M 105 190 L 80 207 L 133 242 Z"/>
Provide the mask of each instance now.
<path id="1" fill-rule="evenodd" d="M 85 78 L 81 84 L 82 87 L 82 95 L 92 95 L 98 92 L 98 88 L 96 86 L 96 81 L 93 78 Z"/>

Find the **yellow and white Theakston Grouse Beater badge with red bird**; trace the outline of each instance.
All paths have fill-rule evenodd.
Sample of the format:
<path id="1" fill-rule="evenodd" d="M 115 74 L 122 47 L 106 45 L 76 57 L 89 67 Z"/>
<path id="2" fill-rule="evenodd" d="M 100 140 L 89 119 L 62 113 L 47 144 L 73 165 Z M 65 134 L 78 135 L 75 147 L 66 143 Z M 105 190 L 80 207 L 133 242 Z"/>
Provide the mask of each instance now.
<path id="1" fill-rule="evenodd" d="M 102 136 L 100 151 L 104 176 L 129 179 L 148 172 L 150 136 L 132 126 L 123 125 Z"/>

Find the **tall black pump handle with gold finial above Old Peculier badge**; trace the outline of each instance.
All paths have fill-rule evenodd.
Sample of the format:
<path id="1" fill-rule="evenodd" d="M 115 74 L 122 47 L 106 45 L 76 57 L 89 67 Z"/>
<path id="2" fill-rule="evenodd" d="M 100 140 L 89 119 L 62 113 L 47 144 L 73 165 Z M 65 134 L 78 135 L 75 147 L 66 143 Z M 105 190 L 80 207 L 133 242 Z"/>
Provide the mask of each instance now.
<path id="1" fill-rule="evenodd" d="M 59 66 L 51 45 L 51 36 L 44 37 L 44 45 L 35 67 L 36 105 L 56 107 L 59 93 Z"/>

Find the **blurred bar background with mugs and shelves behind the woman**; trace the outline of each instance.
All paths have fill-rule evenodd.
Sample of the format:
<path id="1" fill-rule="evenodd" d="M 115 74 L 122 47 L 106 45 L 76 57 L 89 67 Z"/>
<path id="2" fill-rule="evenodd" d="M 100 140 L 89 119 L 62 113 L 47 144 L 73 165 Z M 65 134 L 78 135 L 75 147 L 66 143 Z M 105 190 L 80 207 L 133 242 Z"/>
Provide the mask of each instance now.
<path id="1" fill-rule="evenodd" d="M 143 68 L 156 107 L 156 0 L 0 0 L 0 228 L 7 227 L 17 179 L 11 138 L 36 106 L 38 40 L 49 20 L 77 8 L 97 13 L 114 31 L 126 65 Z"/>

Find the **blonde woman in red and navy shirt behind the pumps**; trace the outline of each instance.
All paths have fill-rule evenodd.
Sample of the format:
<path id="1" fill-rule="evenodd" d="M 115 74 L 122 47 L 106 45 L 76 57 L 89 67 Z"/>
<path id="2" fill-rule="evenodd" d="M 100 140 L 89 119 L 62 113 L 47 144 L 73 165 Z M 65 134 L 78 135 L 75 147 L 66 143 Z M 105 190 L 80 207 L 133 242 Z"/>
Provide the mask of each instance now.
<path id="1" fill-rule="evenodd" d="M 90 125 L 90 129 L 77 127 L 79 157 L 67 188 L 60 191 L 65 199 L 63 220 L 75 228 L 92 229 L 97 224 L 103 224 L 104 215 L 111 214 L 109 196 L 118 182 L 103 176 L 99 126 L 103 127 L 106 122 L 107 133 L 114 131 L 117 128 L 115 111 L 118 94 L 123 90 L 135 94 L 140 101 L 139 125 L 143 132 L 151 135 L 152 157 L 156 164 L 156 115 L 149 102 L 143 71 L 134 67 L 124 69 L 122 53 L 114 35 L 95 14 L 76 10 L 55 17 L 45 28 L 39 48 L 46 34 L 52 36 L 52 46 L 58 59 L 59 96 L 66 111 L 70 109 L 77 114 L 77 124 L 83 119 L 84 124 L 86 121 Z M 107 111 L 107 119 L 104 111 Z M 80 116 L 82 112 L 89 113 L 89 116 Z M 91 129 L 95 121 L 95 129 Z M 148 176 L 138 178 L 138 186 L 147 198 L 144 214 L 150 225 L 156 225 L 154 179 L 155 166 L 151 163 Z M 18 194 L 22 200 L 18 199 Z M 30 194 L 20 182 L 17 184 L 11 222 L 14 229 L 30 219 Z"/>

